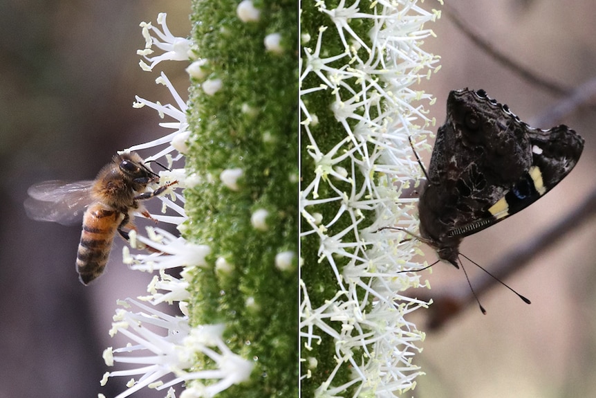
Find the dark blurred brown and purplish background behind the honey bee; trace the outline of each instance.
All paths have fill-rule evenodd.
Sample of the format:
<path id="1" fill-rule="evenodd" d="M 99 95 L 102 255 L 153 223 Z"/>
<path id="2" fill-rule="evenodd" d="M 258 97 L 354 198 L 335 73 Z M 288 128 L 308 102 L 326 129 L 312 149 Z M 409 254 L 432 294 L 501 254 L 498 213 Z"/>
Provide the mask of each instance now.
<path id="1" fill-rule="evenodd" d="M 23 201 L 32 183 L 93 179 L 116 151 L 163 134 L 156 112 L 132 108 L 135 95 L 171 101 L 158 71 L 138 66 L 138 25 L 167 12 L 172 33 L 187 36 L 189 11 L 186 1 L 0 1 L 0 398 L 124 390 L 126 378 L 100 387 L 102 351 L 123 344 L 108 335 L 115 300 L 146 294 L 151 275 L 118 264 L 120 244 L 84 287 L 80 227 L 31 221 Z M 162 65 L 187 98 L 187 64 Z"/>

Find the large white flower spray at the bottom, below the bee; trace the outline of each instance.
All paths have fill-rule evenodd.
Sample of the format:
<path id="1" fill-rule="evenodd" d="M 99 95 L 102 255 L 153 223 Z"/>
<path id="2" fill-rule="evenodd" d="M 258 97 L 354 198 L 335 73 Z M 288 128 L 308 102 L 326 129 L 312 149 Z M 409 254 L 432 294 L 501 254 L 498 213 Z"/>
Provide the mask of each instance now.
<path id="1" fill-rule="evenodd" d="M 129 397 L 145 387 L 163 390 L 182 382 L 190 382 L 196 388 L 198 380 L 209 382 L 203 388 L 201 397 L 212 397 L 250 376 L 252 362 L 230 351 L 222 337 L 223 325 L 190 327 L 185 316 L 169 316 L 131 299 L 127 299 L 126 304 L 134 305 L 142 311 L 119 311 L 113 323 L 113 334 L 124 334 L 136 344 L 115 350 L 108 349 L 104 352 L 104 359 L 109 366 L 113 363 L 135 363 L 142 366 L 104 375 L 102 384 L 109 377 L 140 376 L 131 380 L 132 383 L 127 385 L 129 388 L 116 398 Z M 199 354 L 212 360 L 212 368 L 188 371 Z M 170 380 L 165 381 L 165 377 Z M 173 390 L 168 394 L 172 396 Z"/>

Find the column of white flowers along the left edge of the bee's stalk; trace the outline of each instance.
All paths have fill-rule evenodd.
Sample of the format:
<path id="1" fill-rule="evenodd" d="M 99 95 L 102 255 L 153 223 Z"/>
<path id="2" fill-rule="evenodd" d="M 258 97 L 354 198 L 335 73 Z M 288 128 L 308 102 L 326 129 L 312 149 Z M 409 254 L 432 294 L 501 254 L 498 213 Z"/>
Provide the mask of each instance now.
<path id="1" fill-rule="evenodd" d="M 147 58 L 151 64 L 147 66 L 141 62 L 141 68 L 151 71 L 163 60 L 189 61 L 189 49 L 192 42 L 182 37 L 174 37 L 169 32 L 165 23 L 166 15 L 160 14 L 159 30 L 150 23 L 142 23 L 142 34 L 145 37 L 146 48 L 139 51 L 140 55 Z M 153 36 L 152 34 L 156 35 Z M 161 55 L 148 57 L 153 53 L 152 45 L 162 51 Z M 128 148 L 126 151 L 145 150 L 162 147 L 156 154 L 149 156 L 146 161 L 159 161 L 167 164 L 169 170 L 160 172 L 160 184 L 177 181 L 174 188 L 187 188 L 196 185 L 196 176 L 187 176 L 183 167 L 173 168 L 178 161 L 183 160 L 187 152 L 187 140 L 190 136 L 186 118 L 187 104 L 178 95 L 176 89 L 164 73 L 156 80 L 164 84 L 174 98 L 175 105 L 162 105 L 160 102 L 151 102 L 136 97 L 134 107 L 151 107 L 158 111 L 162 118 L 166 116 L 173 121 L 160 123 L 160 127 L 169 129 L 165 136 L 149 143 L 142 143 Z M 185 228 L 187 219 L 183 206 L 184 197 L 180 192 L 171 190 L 168 195 L 160 195 L 163 203 L 162 212 L 165 214 L 151 215 L 160 222 L 174 224 L 181 232 Z M 187 317 L 187 291 L 188 272 L 194 267 L 205 266 L 205 256 L 211 249 L 207 245 L 188 242 L 183 237 L 176 237 L 160 228 L 147 228 L 147 235 L 131 231 L 130 245 L 132 248 L 147 248 L 141 254 L 131 254 L 130 248 L 124 248 L 124 262 L 130 264 L 132 269 L 140 271 L 159 271 L 149 284 L 149 296 L 139 298 L 147 302 L 127 299 L 122 301 L 121 309 L 114 316 L 111 336 L 116 333 L 124 334 L 133 343 L 126 347 L 113 349 L 109 347 L 104 351 L 106 365 L 114 363 L 134 363 L 141 365 L 130 370 L 116 370 L 106 372 L 102 379 L 104 385 L 109 377 L 137 377 L 127 383 L 127 390 L 116 398 L 124 398 L 142 388 L 168 388 L 167 398 L 175 398 L 174 388 L 177 383 L 186 383 L 186 389 L 181 393 L 181 398 L 212 397 L 217 392 L 225 390 L 235 383 L 248 379 L 252 370 L 252 361 L 243 359 L 234 354 L 225 345 L 222 338 L 223 325 L 199 325 L 191 327 Z M 180 277 L 176 278 L 166 272 L 167 269 L 183 267 Z M 180 316 L 170 316 L 158 310 L 156 305 L 167 302 L 171 305 L 177 303 L 180 307 Z M 140 311 L 132 311 L 132 306 Z M 129 355 L 125 355 L 129 354 Z M 197 370 L 193 368 L 196 361 L 203 357 L 212 363 L 209 369 Z M 193 369 L 191 369 L 193 368 Z M 169 381 L 164 381 L 169 377 Z M 207 381 L 203 384 L 201 381 Z M 102 395 L 100 394 L 100 397 Z"/>

